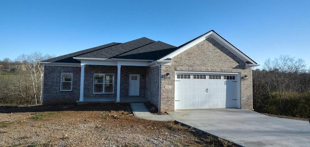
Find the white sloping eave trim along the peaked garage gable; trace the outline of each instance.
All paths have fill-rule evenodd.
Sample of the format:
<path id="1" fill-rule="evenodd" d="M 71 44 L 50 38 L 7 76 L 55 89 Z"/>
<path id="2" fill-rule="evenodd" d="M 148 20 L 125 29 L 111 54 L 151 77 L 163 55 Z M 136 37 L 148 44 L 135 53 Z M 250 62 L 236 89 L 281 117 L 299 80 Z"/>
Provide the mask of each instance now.
<path id="1" fill-rule="evenodd" d="M 225 48 L 227 48 L 228 50 L 230 50 L 234 55 L 236 55 L 238 58 L 242 59 L 244 62 L 250 62 L 253 65 L 257 65 L 253 60 L 249 59 L 245 54 L 243 54 L 241 51 L 239 51 L 237 48 L 233 47 L 232 44 L 228 43 L 227 41 L 225 41 L 222 37 L 220 37 L 219 35 L 217 35 L 217 33 L 215 33 L 214 31 L 210 31 L 209 33 L 197 38 L 196 40 L 192 41 L 189 44 L 186 44 L 185 46 L 177 49 L 176 51 L 172 52 L 171 54 L 159 59 L 159 60 L 163 60 L 163 59 L 167 59 L 167 58 L 173 58 L 177 55 L 179 55 L 180 53 L 186 51 L 187 49 L 189 49 L 190 47 L 195 46 L 196 44 L 202 42 L 203 40 L 212 37 L 214 40 L 216 40 L 219 44 L 223 45 Z"/>

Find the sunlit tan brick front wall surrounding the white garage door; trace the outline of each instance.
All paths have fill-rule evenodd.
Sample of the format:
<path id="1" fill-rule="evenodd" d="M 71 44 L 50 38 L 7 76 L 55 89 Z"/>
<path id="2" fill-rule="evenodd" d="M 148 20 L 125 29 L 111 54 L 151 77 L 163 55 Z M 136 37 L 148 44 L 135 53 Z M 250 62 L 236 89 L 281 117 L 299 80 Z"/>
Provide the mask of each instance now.
<path id="1" fill-rule="evenodd" d="M 161 80 L 161 112 L 174 111 L 175 71 L 233 72 L 241 76 L 241 108 L 252 109 L 252 69 L 245 69 L 245 62 L 236 57 L 213 38 L 202 41 L 171 59 L 171 65 L 162 65 L 161 74 L 170 73 L 170 78 Z M 166 87 L 171 86 L 171 87 Z"/>

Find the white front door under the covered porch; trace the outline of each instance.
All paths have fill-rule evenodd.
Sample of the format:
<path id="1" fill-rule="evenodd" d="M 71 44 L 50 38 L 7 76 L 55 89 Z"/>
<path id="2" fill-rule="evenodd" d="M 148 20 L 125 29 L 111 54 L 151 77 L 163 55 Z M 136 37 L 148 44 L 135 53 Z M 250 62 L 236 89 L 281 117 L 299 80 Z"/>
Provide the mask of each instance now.
<path id="1" fill-rule="evenodd" d="M 129 74 L 129 96 L 139 96 L 140 74 Z"/>

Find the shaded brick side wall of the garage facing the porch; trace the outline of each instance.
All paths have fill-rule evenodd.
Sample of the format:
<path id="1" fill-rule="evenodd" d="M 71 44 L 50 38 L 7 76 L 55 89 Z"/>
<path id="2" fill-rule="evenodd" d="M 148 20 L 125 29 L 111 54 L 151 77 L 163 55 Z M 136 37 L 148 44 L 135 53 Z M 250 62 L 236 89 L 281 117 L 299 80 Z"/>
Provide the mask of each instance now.
<path id="1" fill-rule="evenodd" d="M 145 97 L 157 108 L 159 96 L 159 67 L 148 67 L 146 70 Z"/>

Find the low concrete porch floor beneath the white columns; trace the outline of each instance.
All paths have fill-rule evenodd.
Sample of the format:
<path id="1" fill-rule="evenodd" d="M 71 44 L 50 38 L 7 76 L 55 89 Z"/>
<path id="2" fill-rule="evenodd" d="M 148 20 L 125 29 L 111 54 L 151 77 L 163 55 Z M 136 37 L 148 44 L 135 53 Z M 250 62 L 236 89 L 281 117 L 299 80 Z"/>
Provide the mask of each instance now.
<path id="1" fill-rule="evenodd" d="M 145 97 L 121 97 L 120 103 L 145 103 L 150 102 Z M 116 103 L 116 98 L 113 97 L 102 97 L 102 98 L 84 98 L 83 102 L 77 102 L 78 104 L 82 103 Z"/>

